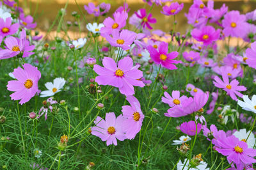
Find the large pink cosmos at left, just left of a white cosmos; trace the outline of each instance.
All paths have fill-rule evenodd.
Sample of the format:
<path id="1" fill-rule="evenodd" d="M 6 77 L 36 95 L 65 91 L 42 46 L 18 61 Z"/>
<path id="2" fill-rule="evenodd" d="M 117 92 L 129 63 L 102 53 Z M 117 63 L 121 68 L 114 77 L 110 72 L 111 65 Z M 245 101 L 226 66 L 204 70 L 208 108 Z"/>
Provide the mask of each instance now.
<path id="1" fill-rule="evenodd" d="M 41 73 L 37 70 L 37 67 L 29 64 L 22 65 L 24 70 L 20 67 L 13 70 L 13 75 L 16 81 L 8 81 L 7 89 L 9 91 L 15 91 L 10 95 L 12 100 L 20 100 L 19 104 L 28 102 L 35 96 L 38 91 L 38 81 L 41 77 Z"/>

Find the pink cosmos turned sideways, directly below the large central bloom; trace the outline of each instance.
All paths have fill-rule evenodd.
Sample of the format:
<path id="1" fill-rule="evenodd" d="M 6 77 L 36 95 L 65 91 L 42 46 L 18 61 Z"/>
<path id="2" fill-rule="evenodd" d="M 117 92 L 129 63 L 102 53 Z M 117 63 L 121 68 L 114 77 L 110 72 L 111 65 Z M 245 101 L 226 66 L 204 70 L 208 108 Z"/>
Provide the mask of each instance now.
<path id="1" fill-rule="evenodd" d="M 144 114 L 140 109 L 140 102 L 133 96 L 127 96 L 126 100 L 131 104 L 122 106 L 122 113 L 125 118 L 122 126 L 124 128 L 125 137 L 134 139 L 136 134 L 140 132 Z"/>

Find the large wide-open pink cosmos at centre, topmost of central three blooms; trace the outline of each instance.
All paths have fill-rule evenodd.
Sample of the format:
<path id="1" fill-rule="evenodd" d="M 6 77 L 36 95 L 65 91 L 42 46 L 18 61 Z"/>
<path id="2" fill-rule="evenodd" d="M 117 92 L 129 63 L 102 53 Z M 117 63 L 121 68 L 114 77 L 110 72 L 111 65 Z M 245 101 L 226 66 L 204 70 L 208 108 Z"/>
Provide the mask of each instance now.
<path id="1" fill-rule="evenodd" d="M 99 74 L 95 81 L 100 85 L 110 85 L 119 88 L 120 93 L 124 95 L 134 95 L 134 87 L 143 88 L 145 84 L 139 81 L 143 77 L 143 72 L 138 70 L 137 66 L 133 66 L 133 61 L 129 57 L 120 59 L 118 66 L 114 59 L 105 57 L 102 61 L 104 67 L 94 65 L 93 70 Z"/>

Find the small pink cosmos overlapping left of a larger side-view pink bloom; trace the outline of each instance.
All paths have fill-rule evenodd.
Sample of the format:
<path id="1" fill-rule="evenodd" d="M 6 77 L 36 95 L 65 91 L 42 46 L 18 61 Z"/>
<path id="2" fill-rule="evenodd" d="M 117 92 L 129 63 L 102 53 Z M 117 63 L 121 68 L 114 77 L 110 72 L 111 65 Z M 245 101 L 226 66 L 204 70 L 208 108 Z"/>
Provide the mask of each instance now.
<path id="1" fill-rule="evenodd" d="M 164 97 L 162 97 L 162 102 L 165 104 L 170 105 L 170 107 L 173 107 L 175 105 L 179 105 L 180 103 L 183 102 L 183 100 L 187 99 L 188 97 L 182 96 L 180 97 L 180 91 L 178 90 L 173 90 L 172 91 L 172 97 L 164 91 Z"/>

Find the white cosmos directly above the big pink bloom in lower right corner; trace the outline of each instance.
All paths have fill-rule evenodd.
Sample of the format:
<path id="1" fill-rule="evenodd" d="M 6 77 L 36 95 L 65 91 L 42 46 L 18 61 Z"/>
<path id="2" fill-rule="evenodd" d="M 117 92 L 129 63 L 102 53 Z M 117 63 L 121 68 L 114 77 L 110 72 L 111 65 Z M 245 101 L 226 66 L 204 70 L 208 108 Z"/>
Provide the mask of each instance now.
<path id="1" fill-rule="evenodd" d="M 239 131 L 236 131 L 233 135 L 236 136 L 239 139 L 239 141 L 245 142 L 249 134 L 250 134 L 250 131 L 246 132 L 246 129 L 243 128 L 243 129 L 240 129 Z M 255 136 L 253 133 L 250 134 L 246 143 L 248 145 L 248 148 L 253 148 L 255 144 Z"/>

